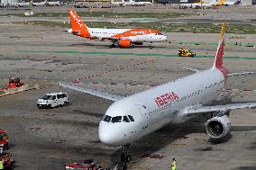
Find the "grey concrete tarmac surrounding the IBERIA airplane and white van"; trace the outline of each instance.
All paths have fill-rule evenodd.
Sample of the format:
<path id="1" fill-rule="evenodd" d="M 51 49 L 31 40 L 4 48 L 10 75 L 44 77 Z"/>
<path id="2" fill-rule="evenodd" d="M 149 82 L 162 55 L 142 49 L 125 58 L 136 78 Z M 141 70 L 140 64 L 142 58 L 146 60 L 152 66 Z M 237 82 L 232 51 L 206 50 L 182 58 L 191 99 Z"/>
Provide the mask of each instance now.
<path id="1" fill-rule="evenodd" d="M 114 167 L 122 148 L 107 147 L 97 137 L 98 123 L 112 102 L 59 87 L 59 82 L 135 94 L 193 74 L 182 67 L 211 67 L 219 37 L 165 32 L 171 43 L 154 43 L 153 49 L 147 43 L 133 49 L 110 49 L 109 42 L 83 40 L 59 28 L 1 21 L 0 85 L 6 85 L 9 76 L 20 76 L 26 84 L 41 86 L 0 98 L 0 129 L 10 136 L 9 151 L 14 153 L 17 170 L 60 170 L 64 164 L 87 158 Z M 226 34 L 225 38 L 224 66 L 232 73 L 255 71 L 256 35 Z M 195 51 L 197 57 L 178 58 L 180 48 Z M 231 77 L 226 88 L 235 90 L 224 91 L 214 103 L 256 101 L 255 74 Z M 69 94 L 69 106 L 37 108 L 41 95 L 59 91 Z M 204 116 L 153 132 L 133 143 L 128 167 L 167 170 L 175 157 L 180 170 L 254 170 L 256 110 L 233 110 L 230 119 L 231 132 L 220 143 L 206 135 Z"/>

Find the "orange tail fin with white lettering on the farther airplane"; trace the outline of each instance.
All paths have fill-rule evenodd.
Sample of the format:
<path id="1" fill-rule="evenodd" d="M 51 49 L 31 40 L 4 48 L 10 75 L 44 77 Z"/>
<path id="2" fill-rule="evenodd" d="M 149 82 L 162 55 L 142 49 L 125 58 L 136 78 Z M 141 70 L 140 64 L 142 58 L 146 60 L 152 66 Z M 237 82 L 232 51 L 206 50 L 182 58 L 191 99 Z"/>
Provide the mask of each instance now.
<path id="1" fill-rule="evenodd" d="M 72 27 L 72 32 L 81 37 L 90 37 L 87 25 L 81 21 L 80 16 L 76 13 L 75 10 L 69 10 L 69 17 Z"/>

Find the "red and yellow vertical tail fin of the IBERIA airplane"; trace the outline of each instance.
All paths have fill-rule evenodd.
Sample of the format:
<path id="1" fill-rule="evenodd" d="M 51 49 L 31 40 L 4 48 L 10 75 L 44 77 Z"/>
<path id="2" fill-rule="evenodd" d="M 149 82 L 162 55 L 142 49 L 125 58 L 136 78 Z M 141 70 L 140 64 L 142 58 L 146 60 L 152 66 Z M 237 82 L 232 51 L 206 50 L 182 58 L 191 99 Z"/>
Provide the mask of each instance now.
<path id="1" fill-rule="evenodd" d="M 219 39 L 219 44 L 218 44 L 218 49 L 216 51 L 216 56 L 215 56 L 214 67 L 216 67 L 216 68 L 223 67 L 225 27 L 226 27 L 226 23 L 223 22 L 222 31 L 220 34 L 220 39 Z"/>

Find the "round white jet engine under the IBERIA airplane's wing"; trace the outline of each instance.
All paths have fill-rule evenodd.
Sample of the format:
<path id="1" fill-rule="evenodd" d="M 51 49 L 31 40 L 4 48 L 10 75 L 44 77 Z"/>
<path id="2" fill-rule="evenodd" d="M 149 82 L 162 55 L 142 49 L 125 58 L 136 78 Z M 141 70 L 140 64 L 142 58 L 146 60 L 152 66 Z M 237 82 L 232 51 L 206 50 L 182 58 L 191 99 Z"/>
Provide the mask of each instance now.
<path id="1" fill-rule="evenodd" d="M 206 122 L 206 132 L 213 139 L 222 139 L 230 131 L 231 122 L 227 115 L 214 117 Z"/>

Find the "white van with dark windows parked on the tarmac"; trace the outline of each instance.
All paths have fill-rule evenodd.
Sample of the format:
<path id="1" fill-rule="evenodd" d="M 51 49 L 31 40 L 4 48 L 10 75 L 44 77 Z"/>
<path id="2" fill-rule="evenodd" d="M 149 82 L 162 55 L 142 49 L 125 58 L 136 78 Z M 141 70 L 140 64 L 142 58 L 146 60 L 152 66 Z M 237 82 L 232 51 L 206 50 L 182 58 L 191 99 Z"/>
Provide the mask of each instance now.
<path id="1" fill-rule="evenodd" d="M 53 107 L 63 106 L 68 104 L 69 104 L 68 94 L 62 93 L 62 92 L 44 94 L 37 101 L 38 108 L 53 108 Z"/>

